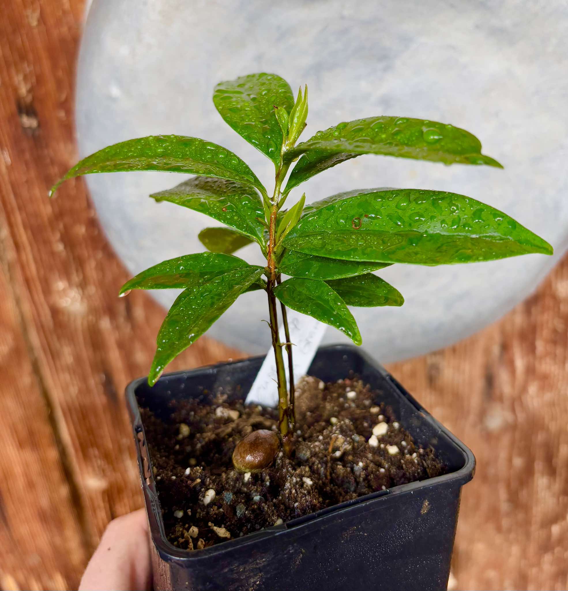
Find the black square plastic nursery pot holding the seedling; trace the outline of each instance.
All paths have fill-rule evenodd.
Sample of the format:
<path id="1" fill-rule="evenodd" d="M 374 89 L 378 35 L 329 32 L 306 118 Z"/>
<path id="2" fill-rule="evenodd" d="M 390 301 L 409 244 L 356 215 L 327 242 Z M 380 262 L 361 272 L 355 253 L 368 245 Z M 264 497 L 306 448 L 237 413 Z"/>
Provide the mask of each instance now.
<path id="1" fill-rule="evenodd" d="M 475 458 L 378 363 L 352 346 L 318 350 L 308 374 L 325 382 L 354 371 L 393 408 L 416 443 L 432 446 L 448 473 L 395 486 L 203 550 L 180 550 L 165 537 L 138 402 L 168 417 L 168 402 L 240 385 L 244 398 L 262 357 L 145 378 L 126 388 L 148 512 L 154 589 L 326 591 L 446 589 L 462 485 Z M 234 388 L 231 389 L 234 392 Z"/>

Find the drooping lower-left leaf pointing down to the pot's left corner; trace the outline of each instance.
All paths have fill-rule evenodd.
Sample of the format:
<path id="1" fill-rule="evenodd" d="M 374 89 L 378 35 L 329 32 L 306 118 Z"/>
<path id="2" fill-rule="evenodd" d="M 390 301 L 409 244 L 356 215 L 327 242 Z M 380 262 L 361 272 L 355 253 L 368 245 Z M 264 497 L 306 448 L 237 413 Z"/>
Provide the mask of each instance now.
<path id="1" fill-rule="evenodd" d="M 187 349 L 251 285 L 260 280 L 262 267 L 247 266 L 191 285 L 178 296 L 156 339 L 156 354 L 148 375 L 155 384 L 175 356 Z"/>

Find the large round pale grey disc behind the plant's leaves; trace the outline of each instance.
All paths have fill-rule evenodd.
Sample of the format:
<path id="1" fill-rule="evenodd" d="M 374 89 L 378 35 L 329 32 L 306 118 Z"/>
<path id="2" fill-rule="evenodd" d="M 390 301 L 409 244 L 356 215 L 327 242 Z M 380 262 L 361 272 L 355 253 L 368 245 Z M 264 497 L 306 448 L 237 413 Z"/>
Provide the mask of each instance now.
<path id="1" fill-rule="evenodd" d="M 405 17 L 407 15 L 407 17 Z M 381 277 L 403 294 L 400 309 L 356 309 L 365 346 L 384 363 L 442 348 L 498 319 L 527 297 L 568 243 L 568 5 L 537 0 L 94 0 L 77 77 L 80 155 L 149 134 L 185 134 L 225 145 L 271 186 L 273 165 L 230 131 L 213 86 L 276 72 L 308 83 L 314 105 L 303 138 L 371 115 L 442 121 L 477 135 L 505 170 L 361 156 L 304 185 L 306 202 L 378 186 L 466 194 L 506 211 L 554 246 L 482 265 L 393 265 Z M 543 48 L 546 47 L 546 51 Z M 495 60 L 498 56 L 498 60 Z M 148 194 L 179 174 L 85 177 L 100 222 L 132 274 L 198 252 L 201 214 Z M 239 252 L 259 263 L 254 246 Z M 265 353 L 260 293 L 239 298 L 208 333 Z M 169 306 L 172 290 L 152 293 Z M 256 322 L 257 321 L 257 322 Z M 376 329 L 380 326 L 380 331 Z M 328 340 L 337 333 L 328 331 Z"/>

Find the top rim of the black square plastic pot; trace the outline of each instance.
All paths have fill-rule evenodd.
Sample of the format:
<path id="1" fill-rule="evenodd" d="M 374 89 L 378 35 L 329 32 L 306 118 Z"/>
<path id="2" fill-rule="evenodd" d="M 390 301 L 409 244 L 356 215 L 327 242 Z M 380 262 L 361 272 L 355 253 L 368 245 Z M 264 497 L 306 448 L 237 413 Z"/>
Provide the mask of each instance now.
<path id="1" fill-rule="evenodd" d="M 234 540 L 228 540 L 221 544 L 216 544 L 202 550 L 181 550 L 171 544 L 166 535 L 164 528 L 164 521 L 161 515 L 161 508 L 158 499 L 158 493 L 156 492 L 156 482 L 154 479 L 154 473 L 152 472 L 152 463 L 146 447 L 146 436 L 144 433 L 144 427 L 142 424 L 142 418 L 140 410 L 138 408 L 138 401 L 136 400 L 136 389 L 139 385 L 146 382 L 147 376 L 133 379 L 126 386 L 126 403 L 128 405 L 128 412 L 130 415 L 130 422 L 132 423 L 132 430 L 136 441 L 136 451 L 138 455 L 138 467 L 141 474 L 142 481 L 142 492 L 144 495 L 146 514 L 148 515 L 149 521 L 149 533 L 154 543 L 156 550 L 164 560 L 179 560 L 179 561 L 196 561 L 200 558 L 211 557 L 215 554 L 224 553 L 227 550 L 234 549 L 236 547 L 245 547 L 249 544 L 256 543 L 260 538 L 272 538 L 275 535 L 285 535 L 290 530 L 297 530 L 305 525 L 317 524 L 322 519 L 328 517 L 329 514 L 342 515 L 349 511 L 355 505 L 361 504 L 378 504 L 381 499 L 391 497 L 393 495 L 403 495 L 404 493 L 413 493 L 416 489 L 430 488 L 432 486 L 439 486 L 446 482 L 452 482 L 455 486 L 463 486 L 474 477 L 475 473 L 475 456 L 472 451 L 465 446 L 451 431 L 444 427 L 438 420 L 436 420 L 419 402 L 417 402 L 409 392 L 395 379 L 393 376 L 383 368 L 380 363 L 375 361 L 367 352 L 364 350 L 352 346 L 352 345 L 327 345 L 322 346 L 318 349 L 318 352 L 325 353 L 330 350 L 347 350 L 355 352 L 363 361 L 367 362 L 368 365 L 376 369 L 380 374 L 386 378 L 387 383 L 393 389 L 395 394 L 406 398 L 416 408 L 417 412 L 422 415 L 423 420 L 435 428 L 437 434 L 442 433 L 456 449 L 461 452 L 463 457 L 463 466 L 453 472 L 448 472 L 440 476 L 434 476 L 433 478 L 427 478 L 425 480 L 416 480 L 409 482 L 404 485 L 393 486 L 393 488 L 386 489 L 385 491 L 377 491 L 368 495 L 360 496 L 357 499 L 346 501 L 338 505 L 333 505 L 324 509 L 320 509 L 315 513 L 305 515 L 304 517 L 291 519 L 290 521 L 281 524 L 267 527 L 263 530 L 252 532 L 241 538 L 235 538 Z M 251 360 L 264 359 L 265 356 L 257 355 L 248 357 L 245 359 L 239 359 L 237 361 L 214 363 L 211 365 L 204 365 L 199 368 L 182 370 L 177 372 L 169 372 L 164 374 L 163 377 L 177 377 L 180 375 L 192 376 L 196 374 L 203 374 L 203 372 L 212 372 L 221 366 L 237 365 L 239 363 L 250 362 Z"/>

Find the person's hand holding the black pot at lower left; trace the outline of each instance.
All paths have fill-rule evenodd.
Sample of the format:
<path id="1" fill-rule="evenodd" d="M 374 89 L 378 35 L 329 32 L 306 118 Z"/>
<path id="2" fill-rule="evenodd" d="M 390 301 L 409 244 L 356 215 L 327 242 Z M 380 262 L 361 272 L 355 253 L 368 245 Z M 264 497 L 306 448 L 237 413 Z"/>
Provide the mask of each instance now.
<path id="1" fill-rule="evenodd" d="M 107 525 L 79 591 L 146 591 L 151 574 L 148 521 L 145 509 L 138 509 Z"/>

